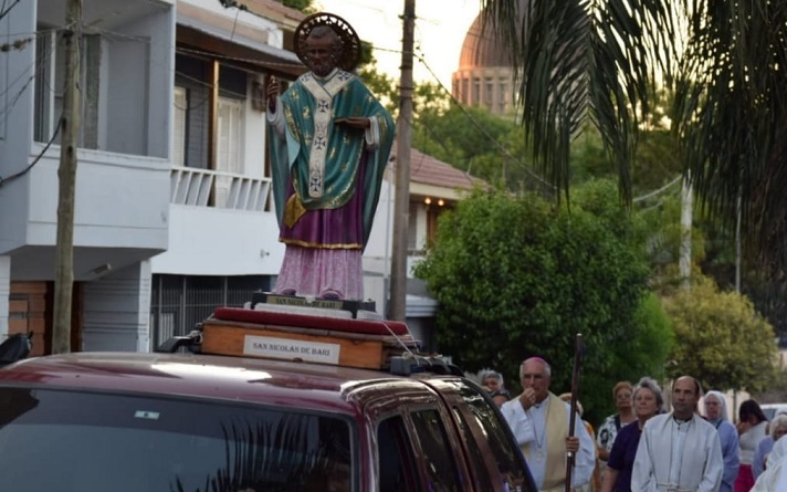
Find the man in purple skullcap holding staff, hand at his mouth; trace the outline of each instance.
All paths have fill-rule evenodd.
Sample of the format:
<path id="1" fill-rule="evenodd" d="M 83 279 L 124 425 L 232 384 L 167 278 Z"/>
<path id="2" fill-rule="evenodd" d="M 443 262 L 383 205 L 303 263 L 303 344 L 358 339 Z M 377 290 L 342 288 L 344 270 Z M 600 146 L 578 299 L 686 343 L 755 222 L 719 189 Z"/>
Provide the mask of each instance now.
<path id="1" fill-rule="evenodd" d="M 575 456 L 571 486 L 588 483 L 596 467 L 594 440 L 579 416 L 571 416 L 570 406 L 549 391 L 552 367 L 541 357 L 531 357 L 520 366 L 520 379 L 524 391 L 500 410 L 522 447 L 538 490 L 565 490 L 567 452 Z M 568 437 L 570 418 L 573 437 Z"/>

